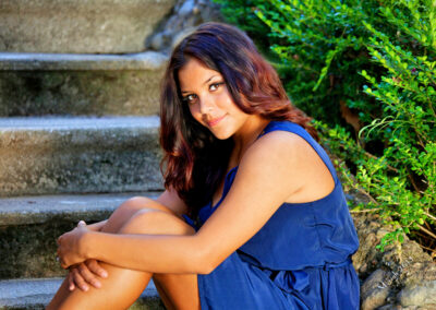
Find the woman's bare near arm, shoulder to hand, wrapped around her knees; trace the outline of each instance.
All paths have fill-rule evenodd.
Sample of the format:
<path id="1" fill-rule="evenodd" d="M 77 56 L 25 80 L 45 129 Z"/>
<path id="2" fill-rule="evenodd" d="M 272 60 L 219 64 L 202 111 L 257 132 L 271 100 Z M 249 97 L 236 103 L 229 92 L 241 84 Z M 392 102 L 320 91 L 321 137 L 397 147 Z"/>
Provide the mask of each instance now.
<path id="1" fill-rule="evenodd" d="M 77 228 L 65 236 L 63 266 L 96 259 L 154 273 L 209 273 L 254 236 L 293 192 L 307 182 L 310 145 L 272 132 L 256 141 L 241 160 L 231 190 L 193 236 L 113 235 Z M 68 234 L 66 234 L 68 235 Z"/>

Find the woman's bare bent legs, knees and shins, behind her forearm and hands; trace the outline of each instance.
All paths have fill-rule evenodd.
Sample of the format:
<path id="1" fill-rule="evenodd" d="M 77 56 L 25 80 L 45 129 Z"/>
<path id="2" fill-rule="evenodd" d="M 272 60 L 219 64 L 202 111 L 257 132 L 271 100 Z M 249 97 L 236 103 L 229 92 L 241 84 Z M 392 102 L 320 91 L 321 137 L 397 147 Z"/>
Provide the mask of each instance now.
<path id="1" fill-rule="evenodd" d="M 106 233 L 191 235 L 192 227 L 164 205 L 148 199 L 132 199 L 122 204 L 102 228 Z M 126 309 L 142 294 L 152 274 L 101 263 L 108 278 L 101 288 L 88 291 L 68 289 L 65 279 L 47 309 Z M 156 284 L 164 302 L 173 309 L 198 309 L 196 275 L 158 275 Z"/>

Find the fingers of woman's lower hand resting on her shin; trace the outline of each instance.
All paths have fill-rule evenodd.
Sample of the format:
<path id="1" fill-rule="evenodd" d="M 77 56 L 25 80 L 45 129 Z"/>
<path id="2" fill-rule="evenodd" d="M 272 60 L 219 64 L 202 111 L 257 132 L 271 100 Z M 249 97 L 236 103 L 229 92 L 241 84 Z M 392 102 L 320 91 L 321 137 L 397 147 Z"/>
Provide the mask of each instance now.
<path id="1" fill-rule="evenodd" d="M 86 260 L 83 263 L 70 267 L 68 275 L 69 289 L 74 290 L 77 287 L 83 291 L 87 291 L 89 285 L 95 288 L 100 288 L 101 283 L 98 277 L 108 277 L 107 271 L 105 271 L 96 260 Z"/>

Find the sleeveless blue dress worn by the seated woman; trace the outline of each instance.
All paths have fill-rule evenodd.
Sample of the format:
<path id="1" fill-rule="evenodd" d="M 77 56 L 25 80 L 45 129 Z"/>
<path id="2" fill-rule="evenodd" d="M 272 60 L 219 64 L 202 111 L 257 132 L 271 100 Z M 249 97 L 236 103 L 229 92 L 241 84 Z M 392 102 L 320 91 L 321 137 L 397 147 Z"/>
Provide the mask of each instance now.
<path id="1" fill-rule="evenodd" d="M 359 309 L 360 283 L 351 255 L 359 239 L 342 186 L 326 152 L 300 126 L 271 121 L 263 131 L 302 136 L 335 179 L 327 196 L 306 203 L 283 203 L 246 243 L 210 274 L 198 275 L 202 309 Z M 221 200 L 201 208 L 199 229 L 229 192 L 238 167 L 225 180 Z M 266 180 L 267 181 L 267 180 Z"/>

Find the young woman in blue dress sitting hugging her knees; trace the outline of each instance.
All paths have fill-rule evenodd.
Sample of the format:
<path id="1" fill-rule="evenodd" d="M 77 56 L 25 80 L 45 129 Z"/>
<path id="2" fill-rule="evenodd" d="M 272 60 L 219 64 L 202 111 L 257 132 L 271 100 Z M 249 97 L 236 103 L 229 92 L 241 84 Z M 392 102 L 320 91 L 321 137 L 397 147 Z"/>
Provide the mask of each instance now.
<path id="1" fill-rule="evenodd" d="M 167 190 L 62 235 L 70 274 L 48 309 L 125 309 L 152 277 L 168 309 L 359 309 L 341 184 L 244 33 L 184 38 L 160 117 Z"/>

